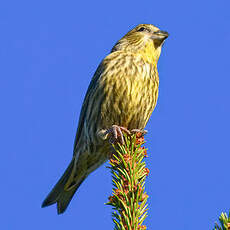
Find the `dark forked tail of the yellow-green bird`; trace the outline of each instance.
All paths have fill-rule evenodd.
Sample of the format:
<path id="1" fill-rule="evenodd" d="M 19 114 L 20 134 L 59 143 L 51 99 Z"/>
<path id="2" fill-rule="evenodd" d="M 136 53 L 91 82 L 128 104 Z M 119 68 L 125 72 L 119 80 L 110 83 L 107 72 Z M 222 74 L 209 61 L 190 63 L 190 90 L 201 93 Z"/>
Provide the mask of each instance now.
<path id="1" fill-rule="evenodd" d="M 43 201 L 42 207 L 57 203 L 58 214 L 66 210 L 74 193 L 85 179 L 85 176 L 78 178 L 76 172 L 76 162 L 73 158 L 60 180 Z"/>

